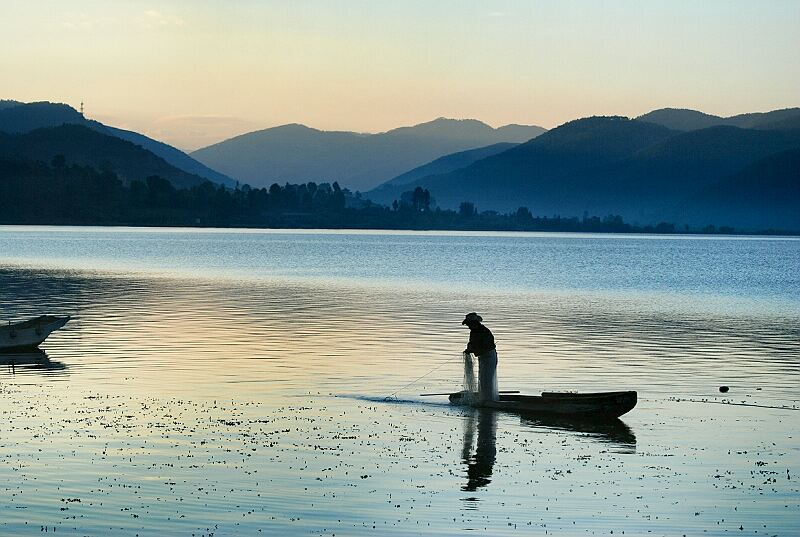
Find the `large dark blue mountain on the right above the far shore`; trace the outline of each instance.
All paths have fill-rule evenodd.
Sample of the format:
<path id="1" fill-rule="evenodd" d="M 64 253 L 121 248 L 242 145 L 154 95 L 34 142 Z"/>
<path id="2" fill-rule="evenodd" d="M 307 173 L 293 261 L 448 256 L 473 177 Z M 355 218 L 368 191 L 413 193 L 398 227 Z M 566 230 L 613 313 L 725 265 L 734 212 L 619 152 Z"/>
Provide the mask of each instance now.
<path id="1" fill-rule="evenodd" d="M 748 118 L 755 124 L 775 119 L 781 118 Z M 690 225 L 720 223 L 716 216 L 724 216 L 734 218 L 724 222 L 726 225 L 766 229 L 774 224 L 787 229 L 785 226 L 791 224 L 794 227 L 788 229 L 800 229 L 800 198 L 796 189 L 786 186 L 796 177 L 786 172 L 790 166 L 785 163 L 785 180 L 775 182 L 769 174 L 777 168 L 768 167 L 771 156 L 797 148 L 800 129 L 713 126 L 678 131 L 639 119 L 591 117 L 565 123 L 460 169 L 404 185 L 387 183 L 365 195 L 387 203 L 420 186 L 444 208 L 471 201 L 479 210 L 501 212 L 526 206 L 537 215 L 619 214 L 633 222 Z M 753 166 L 750 172 L 736 175 L 748 166 Z M 767 177 L 759 176 L 759 170 Z M 749 186 L 743 186 L 747 182 Z M 733 211 L 723 211 L 730 204 L 712 202 L 723 192 L 722 187 L 714 190 L 715 184 L 749 192 L 758 191 L 757 185 L 762 185 L 766 190 L 780 188 L 785 195 L 777 203 L 780 196 L 763 192 L 763 217 L 757 218 L 750 211 L 746 218 L 736 219 Z M 737 199 L 746 200 L 747 196 Z M 769 208 L 770 203 L 774 210 Z M 796 210 L 787 215 L 787 206 Z M 720 214 L 715 215 L 714 210 Z"/>

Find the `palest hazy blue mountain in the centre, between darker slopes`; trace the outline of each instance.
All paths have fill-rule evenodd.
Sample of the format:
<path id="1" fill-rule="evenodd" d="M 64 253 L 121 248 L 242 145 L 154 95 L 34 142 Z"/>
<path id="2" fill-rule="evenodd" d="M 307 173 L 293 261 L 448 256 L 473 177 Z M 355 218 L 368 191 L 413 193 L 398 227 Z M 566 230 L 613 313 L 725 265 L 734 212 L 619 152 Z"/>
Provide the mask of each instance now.
<path id="1" fill-rule="evenodd" d="M 236 136 L 192 156 L 253 186 L 338 181 L 363 191 L 450 153 L 520 143 L 542 132 L 545 129 L 536 126 L 495 129 L 474 119 L 445 118 L 378 134 L 290 124 Z"/>

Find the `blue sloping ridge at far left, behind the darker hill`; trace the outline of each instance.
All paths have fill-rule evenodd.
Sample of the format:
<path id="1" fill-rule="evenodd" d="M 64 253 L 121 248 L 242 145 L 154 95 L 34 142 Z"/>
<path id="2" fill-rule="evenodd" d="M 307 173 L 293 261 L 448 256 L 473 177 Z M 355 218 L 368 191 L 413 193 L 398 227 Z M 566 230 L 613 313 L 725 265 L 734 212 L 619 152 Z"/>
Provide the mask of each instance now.
<path id="1" fill-rule="evenodd" d="M 88 120 L 69 105 L 46 101 L 36 103 L 0 101 L 0 132 L 25 134 L 43 127 L 59 127 L 65 124 L 83 125 L 103 134 L 132 142 L 151 151 L 172 166 L 188 174 L 197 175 L 203 179 L 227 186 L 235 184 L 235 181 L 230 177 L 201 164 L 180 149 L 137 132 L 118 129 L 98 121 Z"/>

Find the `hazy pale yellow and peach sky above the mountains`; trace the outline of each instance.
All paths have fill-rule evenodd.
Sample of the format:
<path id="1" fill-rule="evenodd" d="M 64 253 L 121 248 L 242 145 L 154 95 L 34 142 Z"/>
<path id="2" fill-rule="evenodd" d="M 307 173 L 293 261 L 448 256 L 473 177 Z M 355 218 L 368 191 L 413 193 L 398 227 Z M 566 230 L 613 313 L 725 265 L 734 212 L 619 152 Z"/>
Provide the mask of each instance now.
<path id="1" fill-rule="evenodd" d="M 800 106 L 800 1 L 2 0 L 0 98 L 183 148 L 284 123 Z"/>

